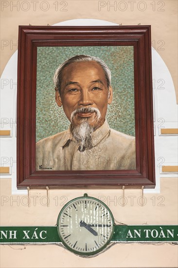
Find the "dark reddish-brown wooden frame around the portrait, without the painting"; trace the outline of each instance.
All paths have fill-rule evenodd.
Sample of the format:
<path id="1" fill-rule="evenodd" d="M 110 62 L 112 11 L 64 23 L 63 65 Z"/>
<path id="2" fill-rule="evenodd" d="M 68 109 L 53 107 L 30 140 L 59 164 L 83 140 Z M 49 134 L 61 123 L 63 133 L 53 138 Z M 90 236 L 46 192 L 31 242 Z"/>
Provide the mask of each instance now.
<path id="1" fill-rule="evenodd" d="M 36 61 L 38 46 L 134 47 L 136 169 L 36 171 Z M 17 187 L 155 187 L 151 26 L 19 26 Z"/>

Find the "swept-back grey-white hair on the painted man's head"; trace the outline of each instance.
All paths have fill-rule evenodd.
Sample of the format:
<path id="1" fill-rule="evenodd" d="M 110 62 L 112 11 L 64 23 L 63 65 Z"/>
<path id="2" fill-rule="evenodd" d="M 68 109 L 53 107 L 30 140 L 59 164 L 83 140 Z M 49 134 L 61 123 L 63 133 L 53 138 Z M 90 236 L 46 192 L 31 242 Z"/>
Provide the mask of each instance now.
<path id="1" fill-rule="evenodd" d="M 105 77 L 107 79 L 107 88 L 109 88 L 109 86 L 111 85 L 111 72 L 109 68 L 107 67 L 106 63 L 103 60 L 101 60 L 99 57 L 93 57 L 89 55 L 76 55 L 74 57 L 66 59 L 62 64 L 59 65 L 59 67 L 55 71 L 53 81 L 54 81 L 55 88 L 59 91 L 59 93 L 61 92 L 62 71 L 64 70 L 65 67 L 69 66 L 71 63 L 74 63 L 74 62 L 98 63 L 102 67 L 105 73 Z"/>

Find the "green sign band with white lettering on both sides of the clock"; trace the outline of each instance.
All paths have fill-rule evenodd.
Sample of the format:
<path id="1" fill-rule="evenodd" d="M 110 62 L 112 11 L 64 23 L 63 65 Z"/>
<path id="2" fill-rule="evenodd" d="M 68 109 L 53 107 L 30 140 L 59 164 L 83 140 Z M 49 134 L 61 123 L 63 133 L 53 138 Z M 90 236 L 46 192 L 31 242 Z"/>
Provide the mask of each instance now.
<path id="1" fill-rule="evenodd" d="M 115 225 L 111 242 L 178 243 L 178 225 Z M 57 227 L 0 227 L 0 244 L 61 243 Z"/>

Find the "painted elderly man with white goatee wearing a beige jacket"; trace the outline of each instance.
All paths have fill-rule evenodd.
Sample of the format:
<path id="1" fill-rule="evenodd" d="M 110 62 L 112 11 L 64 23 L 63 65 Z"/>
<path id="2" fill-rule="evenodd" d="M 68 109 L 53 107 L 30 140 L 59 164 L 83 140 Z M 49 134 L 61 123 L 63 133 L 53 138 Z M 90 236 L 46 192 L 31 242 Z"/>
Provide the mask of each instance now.
<path id="1" fill-rule="evenodd" d="M 54 74 L 55 101 L 70 126 L 36 143 L 36 170 L 133 170 L 135 137 L 109 127 L 111 72 L 99 57 L 76 55 Z"/>

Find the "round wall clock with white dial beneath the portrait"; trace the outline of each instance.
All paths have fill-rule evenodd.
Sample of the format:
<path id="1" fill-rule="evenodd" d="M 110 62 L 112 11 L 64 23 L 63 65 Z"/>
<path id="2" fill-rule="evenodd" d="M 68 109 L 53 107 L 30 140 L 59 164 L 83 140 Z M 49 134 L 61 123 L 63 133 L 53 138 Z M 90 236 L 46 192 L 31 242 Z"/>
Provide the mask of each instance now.
<path id="1" fill-rule="evenodd" d="M 93 197 L 78 197 L 67 203 L 57 219 L 57 231 L 67 249 L 92 255 L 104 249 L 114 232 L 111 211 Z"/>

